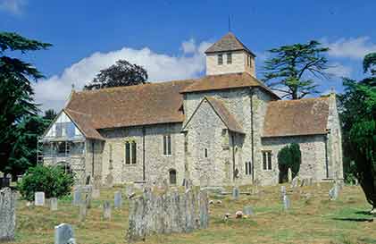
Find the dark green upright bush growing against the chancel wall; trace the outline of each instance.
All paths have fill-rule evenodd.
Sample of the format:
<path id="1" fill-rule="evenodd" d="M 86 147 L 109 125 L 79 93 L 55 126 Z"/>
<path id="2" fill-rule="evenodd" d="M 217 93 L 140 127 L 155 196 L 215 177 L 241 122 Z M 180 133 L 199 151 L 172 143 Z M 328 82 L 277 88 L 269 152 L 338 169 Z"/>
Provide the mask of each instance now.
<path id="1" fill-rule="evenodd" d="M 291 143 L 286 147 L 280 149 L 278 153 L 278 164 L 280 172 L 288 171 L 291 169 L 292 177 L 296 177 L 302 162 L 302 153 L 300 152 L 299 144 Z"/>

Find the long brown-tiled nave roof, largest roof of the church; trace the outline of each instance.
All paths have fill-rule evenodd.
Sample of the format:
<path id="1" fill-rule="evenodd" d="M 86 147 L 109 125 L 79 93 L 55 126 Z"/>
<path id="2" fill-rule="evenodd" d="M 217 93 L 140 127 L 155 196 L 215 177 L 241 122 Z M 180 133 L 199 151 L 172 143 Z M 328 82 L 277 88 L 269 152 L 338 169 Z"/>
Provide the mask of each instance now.
<path id="1" fill-rule="evenodd" d="M 90 118 L 95 129 L 183 122 L 180 90 L 192 82 L 181 80 L 73 92 L 66 109 L 81 115 L 81 127 Z"/>

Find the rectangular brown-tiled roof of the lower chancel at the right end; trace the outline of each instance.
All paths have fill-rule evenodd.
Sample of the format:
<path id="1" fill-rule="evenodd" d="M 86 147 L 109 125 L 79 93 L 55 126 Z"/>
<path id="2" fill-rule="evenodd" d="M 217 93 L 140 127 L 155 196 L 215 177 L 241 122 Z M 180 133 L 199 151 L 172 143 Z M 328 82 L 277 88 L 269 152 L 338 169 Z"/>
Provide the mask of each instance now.
<path id="1" fill-rule="evenodd" d="M 329 103 L 329 97 L 270 102 L 263 123 L 263 137 L 325 134 Z"/>

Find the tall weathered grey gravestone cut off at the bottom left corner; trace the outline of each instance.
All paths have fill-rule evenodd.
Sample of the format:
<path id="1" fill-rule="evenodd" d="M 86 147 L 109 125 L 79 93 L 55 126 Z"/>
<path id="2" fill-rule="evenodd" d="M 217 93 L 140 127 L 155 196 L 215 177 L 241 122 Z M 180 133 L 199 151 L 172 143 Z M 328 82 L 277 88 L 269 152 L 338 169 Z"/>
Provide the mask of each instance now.
<path id="1" fill-rule="evenodd" d="M 14 239 L 16 196 L 9 188 L 0 190 L 0 242 Z"/>

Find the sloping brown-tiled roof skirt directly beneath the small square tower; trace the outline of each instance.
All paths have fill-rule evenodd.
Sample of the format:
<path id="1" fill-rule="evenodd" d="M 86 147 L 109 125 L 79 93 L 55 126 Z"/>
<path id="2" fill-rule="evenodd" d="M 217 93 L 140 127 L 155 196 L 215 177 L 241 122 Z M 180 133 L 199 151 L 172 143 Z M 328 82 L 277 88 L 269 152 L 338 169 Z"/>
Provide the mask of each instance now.
<path id="1" fill-rule="evenodd" d="M 181 93 L 249 87 L 261 87 L 273 97 L 280 99 L 280 97 L 272 92 L 270 88 L 266 87 L 262 81 L 255 79 L 255 77 L 247 72 L 208 75 L 195 80 L 191 86 L 184 88 Z"/>

